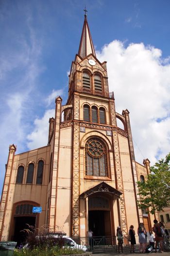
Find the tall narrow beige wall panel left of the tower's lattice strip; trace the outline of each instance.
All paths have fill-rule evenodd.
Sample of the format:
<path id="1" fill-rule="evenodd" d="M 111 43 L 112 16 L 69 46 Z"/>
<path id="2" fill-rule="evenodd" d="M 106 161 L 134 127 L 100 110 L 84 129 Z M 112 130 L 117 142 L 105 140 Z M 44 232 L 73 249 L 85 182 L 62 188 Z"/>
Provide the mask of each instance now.
<path id="1" fill-rule="evenodd" d="M 72 127 L 60 130 L 56 224 L 70 234 Z"/>

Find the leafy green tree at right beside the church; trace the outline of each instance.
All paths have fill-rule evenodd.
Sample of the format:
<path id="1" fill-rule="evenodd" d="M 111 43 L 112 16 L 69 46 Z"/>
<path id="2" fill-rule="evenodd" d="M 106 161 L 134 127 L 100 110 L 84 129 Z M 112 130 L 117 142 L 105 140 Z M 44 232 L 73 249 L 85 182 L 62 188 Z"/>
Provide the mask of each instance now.
<path id="1" fill-rule="evenodd" d="M 151 173 L 145 181 L 137 182 L 142 210 L 154 214 L 164 207 L 170 207 L 170 153 L 151 167 Z M 150 208 L 150 209 L 149 209 Z"/>

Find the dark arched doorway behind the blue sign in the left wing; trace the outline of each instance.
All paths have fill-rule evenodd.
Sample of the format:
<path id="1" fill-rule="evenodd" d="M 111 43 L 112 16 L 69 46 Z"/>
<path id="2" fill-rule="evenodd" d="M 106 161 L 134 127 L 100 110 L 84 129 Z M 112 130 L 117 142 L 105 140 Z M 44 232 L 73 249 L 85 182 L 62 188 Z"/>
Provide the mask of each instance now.
<path id="1" fill-rule="evenodd" d="M 24 229 L 32 229 L 35 228 L 35 225 L 38 222 L 36 220 L 36 214 L 33 213 L 33 207 L 38 206 L 34 202 L 30 201 L 22 201 L 14 204 L 13 210 L 13 221 L 11 223 L 12 229 L 12 239 L 17 242 L 17 246 L 25 241 Z"/>

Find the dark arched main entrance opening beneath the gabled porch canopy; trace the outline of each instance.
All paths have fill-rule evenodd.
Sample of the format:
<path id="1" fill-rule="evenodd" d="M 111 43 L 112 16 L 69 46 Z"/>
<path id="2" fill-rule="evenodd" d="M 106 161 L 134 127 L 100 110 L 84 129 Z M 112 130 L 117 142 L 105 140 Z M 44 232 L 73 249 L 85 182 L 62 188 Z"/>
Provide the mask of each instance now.
<path id="1" fill-rule="evenodd" d="M 111 236 L 111 201 L 107 197 L 95 195 L 88 198 L 88 230 L 94 236 Z"/>

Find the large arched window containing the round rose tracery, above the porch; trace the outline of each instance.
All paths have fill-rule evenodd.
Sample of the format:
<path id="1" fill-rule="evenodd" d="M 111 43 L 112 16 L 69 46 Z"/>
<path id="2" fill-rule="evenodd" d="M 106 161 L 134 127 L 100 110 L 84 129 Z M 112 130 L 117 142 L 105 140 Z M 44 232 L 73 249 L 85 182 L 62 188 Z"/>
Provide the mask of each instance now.
<path id="1" fill-rule="evenodd" d="M 85 144 L 85 167 L 88 176 L 107 176 L 107 153 L 102 141 L 93 137 Z"/>

